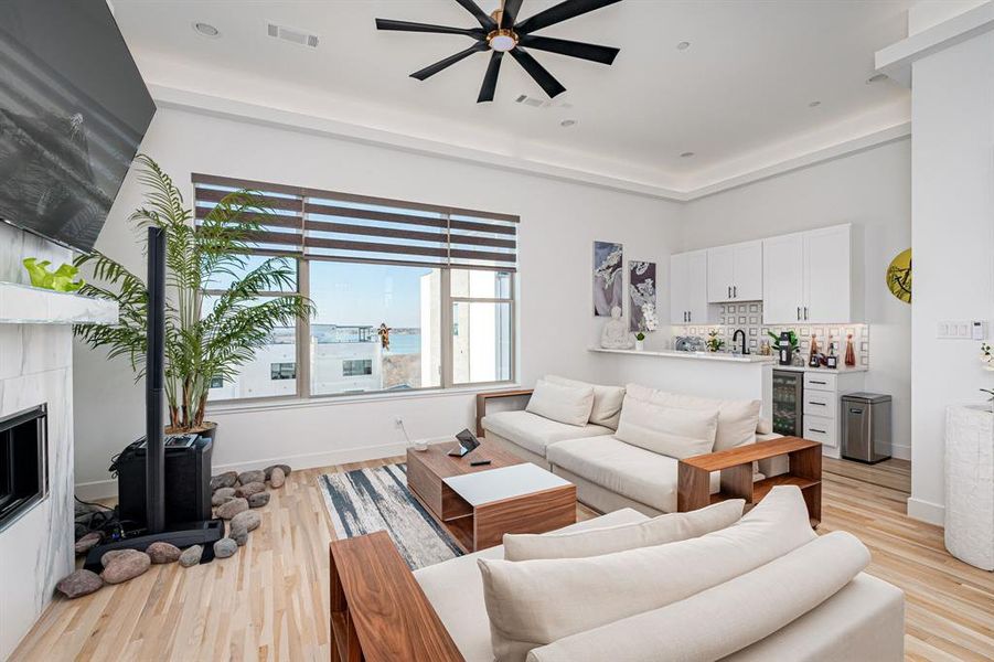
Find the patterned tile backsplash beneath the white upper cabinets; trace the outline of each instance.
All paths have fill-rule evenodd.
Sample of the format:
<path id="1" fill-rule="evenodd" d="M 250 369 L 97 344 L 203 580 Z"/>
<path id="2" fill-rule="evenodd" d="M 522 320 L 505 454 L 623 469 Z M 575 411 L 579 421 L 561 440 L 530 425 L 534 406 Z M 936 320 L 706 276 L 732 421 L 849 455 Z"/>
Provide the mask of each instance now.
<path id="1" fill-rule="evenodd" d="M 718 338 L 725 341 L 725 349 L 730 349 L 731 335 L 736 329 L 746 332 L 746 346 L 749 352 L 758 353 L 763 340 L 771 341 L 767 332 L 780 334 L 783 331 L 793 330 L 801 340 L 800 352 L 808 355 L 811 350 L 811 335 L 817 337 L 817 344 L 825 351 L 829 337 L 835 342 L 835 353 L 840 357 L 845 356 L 846 335 L 853 335 L 853 345 L 856 350 L 856 364 L 869 366 L 869 325 L 868 324 L 773 324 L 762 323 L 762 302 L 746 301 L 742 303 L 718 303 L 716 324 L 688 324 L 686 327 L 673 327 L 673 335 L 697 335 L 707 339 L 710 330 L 717 329 Z M 842 361 L 840 360 L 840 363 Z"/>

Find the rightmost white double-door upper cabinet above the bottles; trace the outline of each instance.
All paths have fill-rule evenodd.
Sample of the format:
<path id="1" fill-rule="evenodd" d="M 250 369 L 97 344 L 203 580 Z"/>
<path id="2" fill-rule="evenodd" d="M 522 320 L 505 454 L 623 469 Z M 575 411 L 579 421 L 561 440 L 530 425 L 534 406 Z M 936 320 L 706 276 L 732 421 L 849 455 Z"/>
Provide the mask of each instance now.
<path id="1" fill-rule="evenodd" d="M 856 322 L 863 317 L 859 264 L 853 259 L 851 225 L 836 225 L 762 242 L 762 319 L 791 322 Z"/>

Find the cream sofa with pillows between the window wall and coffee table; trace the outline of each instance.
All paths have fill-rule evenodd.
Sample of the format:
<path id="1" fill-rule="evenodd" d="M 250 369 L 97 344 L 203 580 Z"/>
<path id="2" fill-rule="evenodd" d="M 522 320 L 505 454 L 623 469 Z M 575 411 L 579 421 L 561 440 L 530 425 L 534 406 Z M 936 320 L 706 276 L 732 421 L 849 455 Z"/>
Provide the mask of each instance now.
<path id="1" fill-rule="evenodd" d="M 589 392 L 586 417 L 581 392 Z M 685 437 L 674 440 L 660 429 L 639 434 L 644 431 L 645 426 L 640 425 L 644 421 L 626 413 L 626 407 L 631 412 L 634 405 L 643 409 L 643 418 L 650 419 L 656 414 L 665 416 L 671 409 L 715 410 L 718 419 L 708 439 L 712 444 L 702 447 Z M 653 516 L 676 512 L 681 458 L 780 436 L 770 434 L 769 421 L 761 419 L 759 409 L 758 401 L 691 397 L 635 384 L 606 386 L 548 375 L 536 384 L 526 409 L 490 414 L 481 423 L 489 442 L 574 483 L 581 503 L 603 513 L 630 508 Z M 619 435 L 619 425 L 623 426 L 627 419 L 631 419 L 629 430 L 622 429 Z M 682 423 L 671 425 L 678 427 Z M 651 420 L 648 427 L 653 427 Z M 632 429 L 637 431 L 632 434 Z M 626 431 L 635 444 L 624 438 Z M 662 448 L 653 444 L 660 434 L 666 437 Z M 642 437 L 652 439 L 640 441 Z M 766 476 L 785 469 L 782 462 L 769 461 L 757 467 Z M 713 492 L 718 491 L 718 480 L 717 473 L 712 474 Z"/>

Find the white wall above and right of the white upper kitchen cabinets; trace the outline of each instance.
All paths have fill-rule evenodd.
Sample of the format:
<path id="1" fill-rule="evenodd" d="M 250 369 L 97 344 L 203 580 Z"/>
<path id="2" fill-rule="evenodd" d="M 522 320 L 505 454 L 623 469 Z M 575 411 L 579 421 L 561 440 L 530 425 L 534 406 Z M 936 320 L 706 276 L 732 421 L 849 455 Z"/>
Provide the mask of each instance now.
<path id="1" fill-rule="evenodd" d="M 838 223 L 863 229 L 870 339 L 866 388 L 894 397 L 895 455 L 908 458 L 911 307 L 890 295 L 884 275 L 894 256 L 911 245 L 911 141 L 898 140 L 695 200 L 686 205 L 683 220 L 683 245 L 688 250 Z M 916 299 L 921 282 L 917 250 L 916 245 Z"/>

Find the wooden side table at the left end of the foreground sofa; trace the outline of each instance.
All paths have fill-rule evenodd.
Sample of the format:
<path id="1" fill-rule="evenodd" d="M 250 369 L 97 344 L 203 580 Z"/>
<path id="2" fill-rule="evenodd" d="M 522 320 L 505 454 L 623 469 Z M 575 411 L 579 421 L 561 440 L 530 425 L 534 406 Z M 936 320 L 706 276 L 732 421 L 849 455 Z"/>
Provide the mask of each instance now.
<path id="1" fill-rule="evenodd" d="M 462 662 L 435 608 L 389 534 L 333 541 L 332 662 Z"/>

